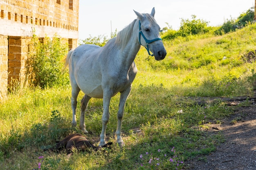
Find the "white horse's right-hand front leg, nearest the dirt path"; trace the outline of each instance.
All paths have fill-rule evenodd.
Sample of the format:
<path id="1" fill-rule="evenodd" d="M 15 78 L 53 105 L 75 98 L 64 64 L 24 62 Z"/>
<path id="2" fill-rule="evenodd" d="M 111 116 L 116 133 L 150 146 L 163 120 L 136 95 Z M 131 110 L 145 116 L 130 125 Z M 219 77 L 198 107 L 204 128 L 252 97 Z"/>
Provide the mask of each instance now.
<path id="1" fill-rule="evenodd" d="M 121 128 L 122 128 L 122 120 L 124 116 L 124 106 L 130 94 L 130 91 L 131 91 L 131 86 L 129 86 L 125 91 L 121 92 L 121 95 L 120 95 L 119 109 L 117 113 L 117 119 L 118 119 L 117 131 L 115 132 L 115 137 L 117 139 L 117 143 L 119 144 L 119 146 L 124 146 Z"/>

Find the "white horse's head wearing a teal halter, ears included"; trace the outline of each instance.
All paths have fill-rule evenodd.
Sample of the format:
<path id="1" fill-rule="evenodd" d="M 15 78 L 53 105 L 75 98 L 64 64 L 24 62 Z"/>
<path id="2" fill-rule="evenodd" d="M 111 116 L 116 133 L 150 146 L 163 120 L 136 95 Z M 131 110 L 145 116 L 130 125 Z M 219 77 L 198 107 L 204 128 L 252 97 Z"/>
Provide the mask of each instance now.
<path id="1" fill-rule="evenodd" d="M 150 14 L 134 12 L 139 19 L 139 43 L 147 49 L 149 55 L 149 51 L 153 53 L 152 56 L 155 55 L 155 60 L 163 60 L 166 56 L 166 50 L 159 35 L 160 27 L 154 18 L 155 8 Z"/>

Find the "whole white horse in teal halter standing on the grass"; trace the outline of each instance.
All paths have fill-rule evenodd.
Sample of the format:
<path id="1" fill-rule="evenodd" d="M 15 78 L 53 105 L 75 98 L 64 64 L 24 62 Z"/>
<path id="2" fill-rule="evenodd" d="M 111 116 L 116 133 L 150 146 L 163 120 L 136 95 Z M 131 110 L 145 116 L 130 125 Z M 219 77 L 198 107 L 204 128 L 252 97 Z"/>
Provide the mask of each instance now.
<path id="1" fill-rule="evenodd" d="M 166 56 L 166 50 L 159 35 L 160 27 L 154 18 L 155 8 L 152 9 L 151 14 L 134 12 L 137 19 L 121 30 L 116 38 L 109 40 L 105 46 L 83 44 L 70 50 L 65 59 L 65 67 L 69 65 L 72 86 L 72 125 L 76 126 L 76 105 L 80 90 L 85 93 L 81 100 L 79 126 L 83 132 L 88 132 L 85 129 L 85 109 L 90 98 L 103 98 L 100 146 L 106 144 L 110 99 L 118 92 L 121 95 L 115 137 L 120 146 L 124 145 L 121 137 L 121 123 L 126 99 L 137 73 L 134 59 L 140 46 L 144 46 L 148 54 L 151 51 L 152 56 L 155 55 L 155 60 L 163 60 Z"/>

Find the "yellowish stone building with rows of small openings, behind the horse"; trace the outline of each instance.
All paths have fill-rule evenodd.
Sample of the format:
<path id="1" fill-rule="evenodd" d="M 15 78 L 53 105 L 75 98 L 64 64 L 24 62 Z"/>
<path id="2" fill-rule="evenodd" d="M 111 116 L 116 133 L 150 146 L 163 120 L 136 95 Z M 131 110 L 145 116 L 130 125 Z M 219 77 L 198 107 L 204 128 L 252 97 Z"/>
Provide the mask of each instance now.
<path id="1" fill-rule="evenodd" d="M 79 0 L 0 0 L 0 101 L 13 79 L 24 83 L 28 44 L 58 35 L 77 46 Z"/>

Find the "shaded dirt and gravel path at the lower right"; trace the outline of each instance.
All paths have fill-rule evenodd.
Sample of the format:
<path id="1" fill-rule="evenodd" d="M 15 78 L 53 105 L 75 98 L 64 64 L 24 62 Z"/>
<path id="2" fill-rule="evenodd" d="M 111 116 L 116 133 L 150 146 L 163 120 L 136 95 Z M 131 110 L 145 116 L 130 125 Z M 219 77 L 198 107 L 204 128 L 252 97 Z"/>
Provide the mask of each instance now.
<path id="1" fill-rule="evenodd" d="M 256 100 L 249 99 L 248 106 L 241 106 L 243 99 L 227 101 L 237 110 L 222 124 L 209 124 L 209 133 L 221 132 L 225 142 L 216 152 L 187 161 L 188 170 L 256 170 Z M 247 101 L 248 102 L 248 101 Z"/>

